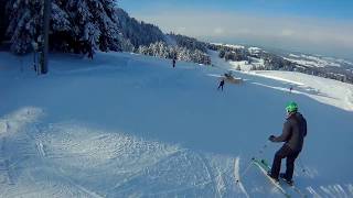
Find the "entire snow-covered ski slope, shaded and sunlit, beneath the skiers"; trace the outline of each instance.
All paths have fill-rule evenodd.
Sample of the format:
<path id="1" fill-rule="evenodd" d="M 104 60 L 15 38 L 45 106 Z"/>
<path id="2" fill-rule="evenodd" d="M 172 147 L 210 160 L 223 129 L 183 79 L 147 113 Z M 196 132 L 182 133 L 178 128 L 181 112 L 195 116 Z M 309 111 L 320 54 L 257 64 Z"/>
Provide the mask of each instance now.
<path id="1" fill-rule="evenodd" d="M 222 59 L 53 55 L 40 77 L 31 59 L 0 53 L 0 197 L 281 197 L 256 167 L 243 173 L 253 156 L 272 160 L 280 144 L 259 150 L 290 100 L 309 124 L 297 185 L 353 196 L 351 85 L 234 72 L 245 82 L 222 92 Z"/>

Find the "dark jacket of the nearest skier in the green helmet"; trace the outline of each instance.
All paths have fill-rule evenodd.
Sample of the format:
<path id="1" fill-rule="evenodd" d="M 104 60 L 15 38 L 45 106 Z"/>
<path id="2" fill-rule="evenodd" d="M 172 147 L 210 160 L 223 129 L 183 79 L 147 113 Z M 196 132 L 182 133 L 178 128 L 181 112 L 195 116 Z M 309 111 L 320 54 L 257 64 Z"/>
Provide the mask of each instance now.
<path id="1" fill-rule="evenodd" d="M 307 120 L 302 114 L 297 112 L 287 118 L 287 121 L 284 124 L 282 134 L 276 136 L 274 142 L 286 142 L 292 151 L 300 152 L 302 150 L 304 136 L 307 136 Z"/>

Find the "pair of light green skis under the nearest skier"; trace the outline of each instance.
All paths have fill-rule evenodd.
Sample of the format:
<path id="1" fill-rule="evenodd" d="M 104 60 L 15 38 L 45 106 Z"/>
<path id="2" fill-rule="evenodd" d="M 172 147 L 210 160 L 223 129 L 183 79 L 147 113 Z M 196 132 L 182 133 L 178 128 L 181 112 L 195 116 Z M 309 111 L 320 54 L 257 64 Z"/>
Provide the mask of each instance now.
<path id="1" fill-rule="evenodd" d="M 265 160 L 258 160 L 258 158 L 252 158 L 253 164 L 255 164 L 260 170 L 261 173 L 275 185 L 275 187 L 277 189 L 279 189 L 279 191 L 281 194 L 284 194 L 285 197 L 290 198 L 290 194 L 288 194 L 286 191 L 286 189 L 280 185 L 279 182 L 275 180 L 274 178 L 271 178 L 270 176 L 267 175 L 267 173 L 271 169 L 270 166 L 268 165 L 268 163 Z M 282 179 L 282 178 L 281 178 Z M 285 182 L 285 179 L 282 179 L 282 182 Z M 287 182 L 285 182 L 287 183 Z M 288 185 L 288 184 L 287 184 Z M 289 185 L 300 197 L 307 197 L 307 195 L 304 195 L 298 187 L 296 187 L 295 185 Z"/>

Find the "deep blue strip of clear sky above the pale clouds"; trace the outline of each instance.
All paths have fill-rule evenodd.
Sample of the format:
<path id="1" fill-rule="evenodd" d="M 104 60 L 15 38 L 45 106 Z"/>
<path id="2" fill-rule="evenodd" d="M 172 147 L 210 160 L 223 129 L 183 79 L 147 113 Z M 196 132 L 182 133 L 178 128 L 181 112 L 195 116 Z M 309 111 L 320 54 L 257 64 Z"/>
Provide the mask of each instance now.
<path id="1" fill-rule="evenodd" d="M 156 12 L 172 9 L 202 9 L 265 15 L 353 19 L 352 0 L 120 0 L 131 12 Z"/>

